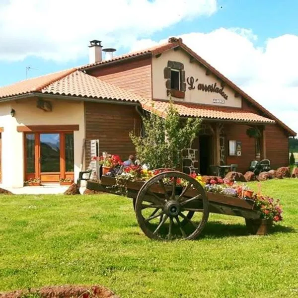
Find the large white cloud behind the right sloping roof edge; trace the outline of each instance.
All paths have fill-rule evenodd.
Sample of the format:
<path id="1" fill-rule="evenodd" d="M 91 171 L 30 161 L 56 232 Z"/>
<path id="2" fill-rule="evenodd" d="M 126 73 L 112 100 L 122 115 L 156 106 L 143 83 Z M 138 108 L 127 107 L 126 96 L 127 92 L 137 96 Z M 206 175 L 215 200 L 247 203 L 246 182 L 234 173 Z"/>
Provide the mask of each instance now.
<path id="1" fill-rule="evenodd" d="M 198 55 L 298 132 L 298 36 L 269 38 L 263 47 L 250 29 L 219 28 L 180 36 Z M 166 39 L 165 39 L 166 40 Z M 160 42 L 164 42 L 162 40 Z M 146 46 L 156 42 L 146 40 Z M 133 48 L 140 48 L 143 40 Z"/>

